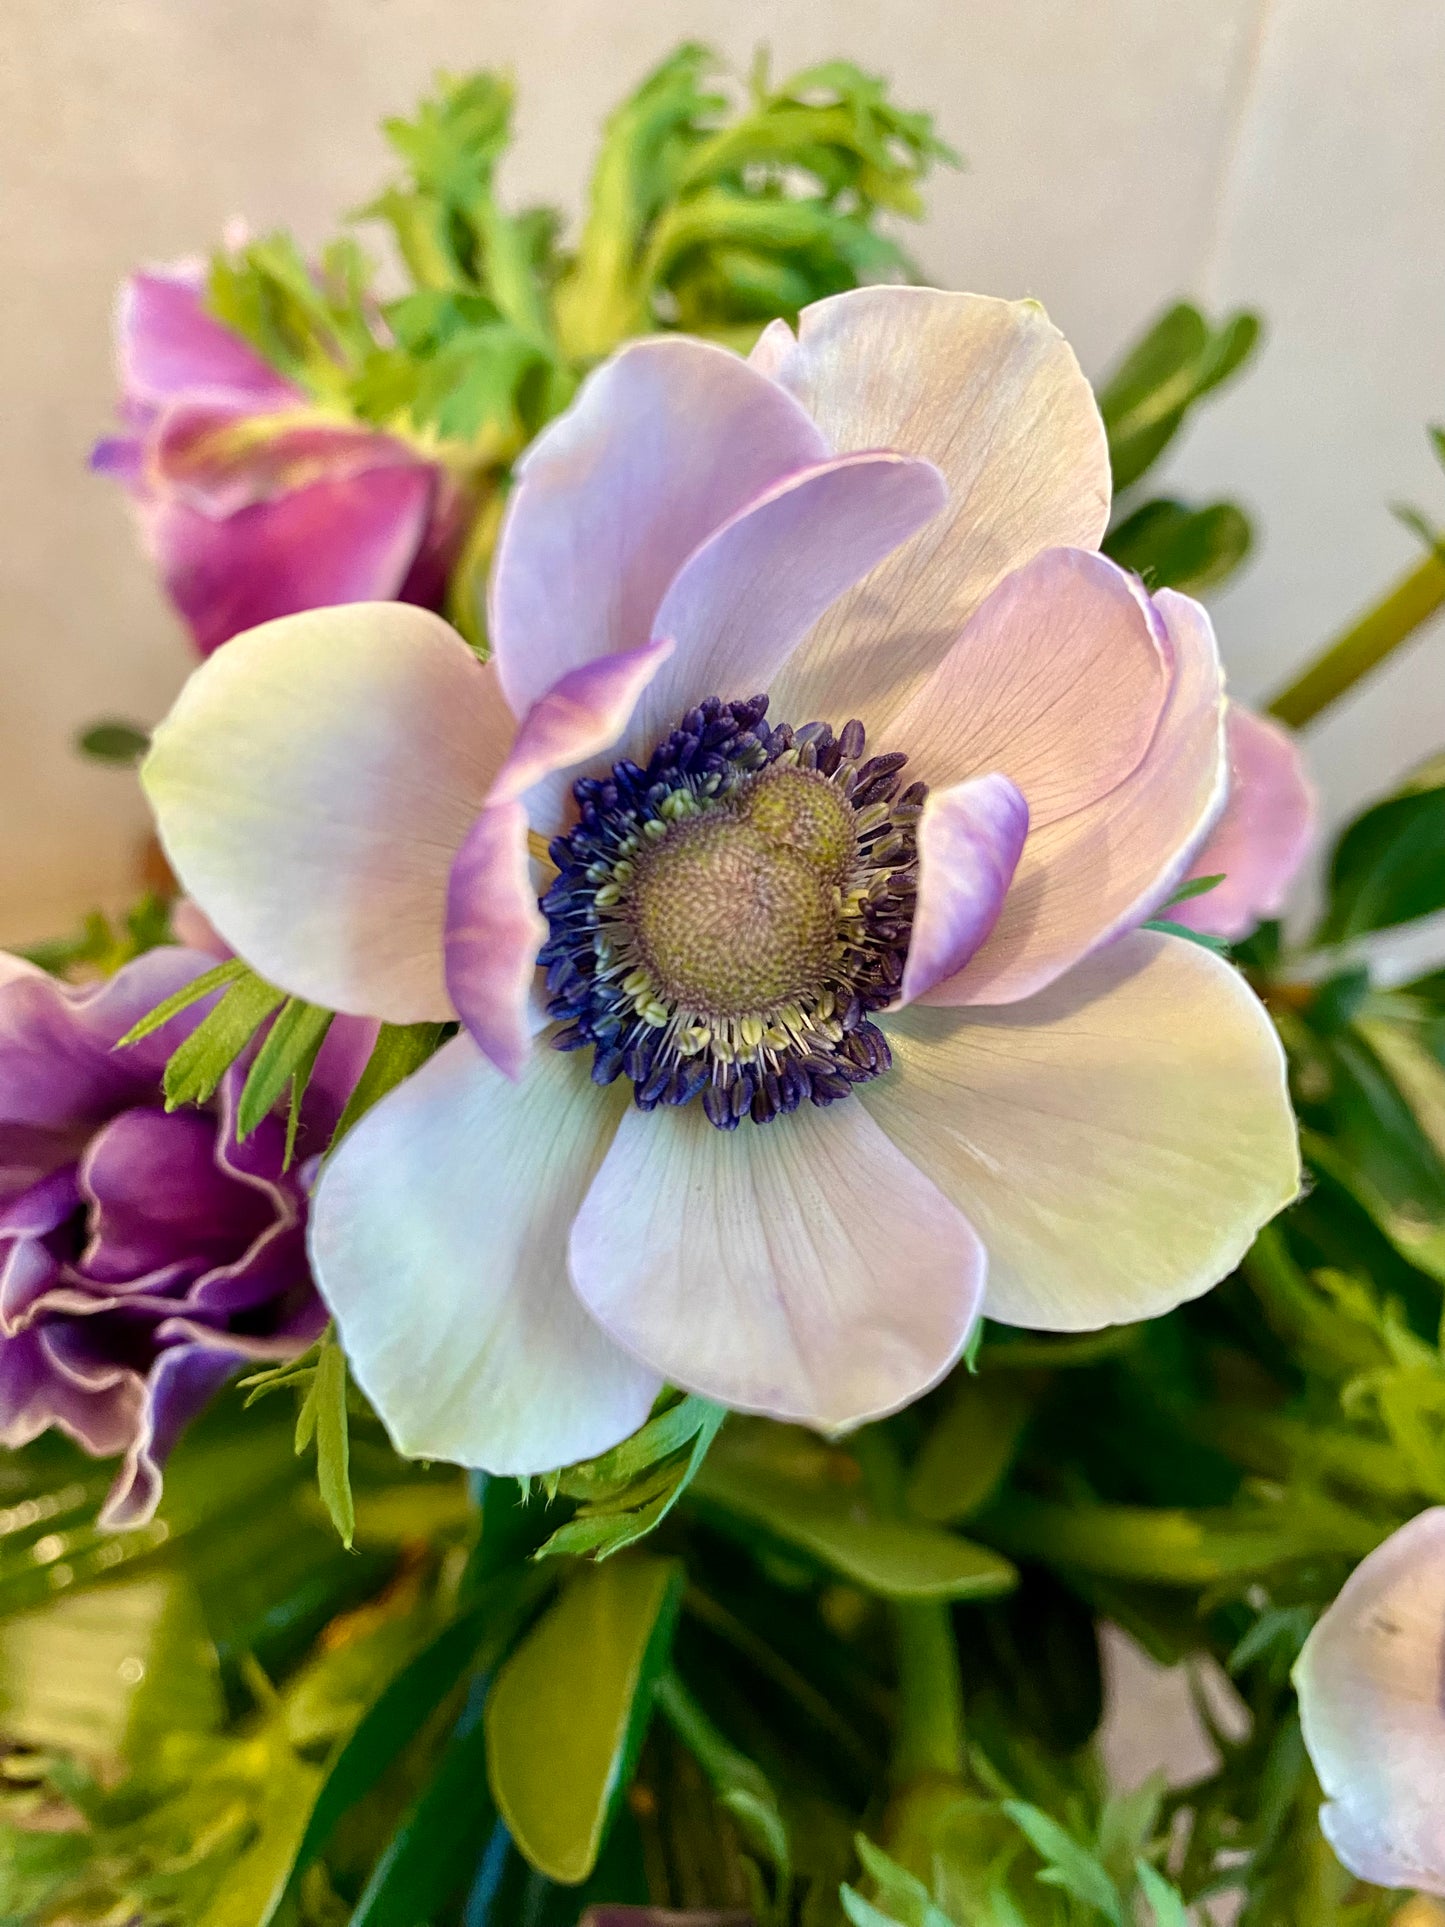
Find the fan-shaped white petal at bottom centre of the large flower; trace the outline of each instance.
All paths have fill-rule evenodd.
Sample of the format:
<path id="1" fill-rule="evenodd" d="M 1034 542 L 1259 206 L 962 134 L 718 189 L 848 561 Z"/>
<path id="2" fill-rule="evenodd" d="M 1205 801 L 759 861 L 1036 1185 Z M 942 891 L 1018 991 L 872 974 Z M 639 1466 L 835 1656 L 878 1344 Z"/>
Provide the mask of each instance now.
<path id="1" fill-rule="evenodd" d="M 688 1104 L 622 1118 L 570 1266 L 599 1324 L 663 1378 L 834 1432 L 944 1376 L 985 1254 L 852 1100 L 730 1133 Z"/>

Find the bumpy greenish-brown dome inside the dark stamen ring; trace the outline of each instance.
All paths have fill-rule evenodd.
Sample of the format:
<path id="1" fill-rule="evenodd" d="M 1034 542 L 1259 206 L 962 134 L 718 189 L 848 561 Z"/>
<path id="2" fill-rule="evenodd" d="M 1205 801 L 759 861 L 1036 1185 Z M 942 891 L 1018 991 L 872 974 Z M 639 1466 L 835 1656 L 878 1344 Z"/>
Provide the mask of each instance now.
<path id="1" fill-rule="evenodd" d="M 827 973 L 855 817 L 825 777 L 771 769 L 722 807 L 682 817 L 636 859 L 626 919 L 667 1002 L 765 1016 Z"/>

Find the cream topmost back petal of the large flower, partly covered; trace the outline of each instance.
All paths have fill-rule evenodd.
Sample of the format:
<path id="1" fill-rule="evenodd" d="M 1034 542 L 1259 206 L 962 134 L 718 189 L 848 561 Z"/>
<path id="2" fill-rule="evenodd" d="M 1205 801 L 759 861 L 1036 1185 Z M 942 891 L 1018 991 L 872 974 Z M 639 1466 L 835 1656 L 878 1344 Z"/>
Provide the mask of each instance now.
<path id="1" fill-rule="evenodd" d="M 775 686 L 778 721 L 859 715 L 871 732 L 1010 570 L 1040 549 L 1096 549 L 1108 524 L 1104 424 L 1073 351 L 1033 301 L 933 287 L 832 295 L 769 330 L 755 366 L 838 453 L 934 462 L 948 509 L 828 609 Z"/>

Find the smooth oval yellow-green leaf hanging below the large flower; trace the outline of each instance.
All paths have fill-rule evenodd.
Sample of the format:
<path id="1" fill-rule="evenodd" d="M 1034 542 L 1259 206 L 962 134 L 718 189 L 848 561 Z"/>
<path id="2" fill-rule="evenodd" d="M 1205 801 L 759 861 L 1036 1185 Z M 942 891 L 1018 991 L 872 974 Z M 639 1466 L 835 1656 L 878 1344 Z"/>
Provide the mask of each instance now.
<path id="1" fill-rule="evenodd" d="M 682 1572 L 630 1553 L 576 1572 L 497 1675 L 487 1771 L 507 1827 L 553 1881 L 584 1881 L 651 1715 Z"/>

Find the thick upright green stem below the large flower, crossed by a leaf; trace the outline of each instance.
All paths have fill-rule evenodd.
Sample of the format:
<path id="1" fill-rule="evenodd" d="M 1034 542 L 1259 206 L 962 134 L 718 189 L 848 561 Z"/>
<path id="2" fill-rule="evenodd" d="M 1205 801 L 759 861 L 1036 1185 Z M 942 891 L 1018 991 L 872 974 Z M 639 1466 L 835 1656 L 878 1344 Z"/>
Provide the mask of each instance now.
<path id="1" fill-rule="evenodd" d="M 904 1513 L 904 1468 L 882 1426 L 848 1441 L 879 1513 Z M 954 1615 L 946 1599 L 900 1599 L 892 1609 L 898 1653 L 898 1723 L 892 1781 L 909 1786 L 934 1775 L 961 1777 L 963 1682 L 958 1673 Z"/>

